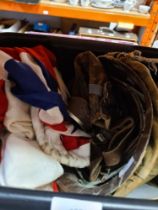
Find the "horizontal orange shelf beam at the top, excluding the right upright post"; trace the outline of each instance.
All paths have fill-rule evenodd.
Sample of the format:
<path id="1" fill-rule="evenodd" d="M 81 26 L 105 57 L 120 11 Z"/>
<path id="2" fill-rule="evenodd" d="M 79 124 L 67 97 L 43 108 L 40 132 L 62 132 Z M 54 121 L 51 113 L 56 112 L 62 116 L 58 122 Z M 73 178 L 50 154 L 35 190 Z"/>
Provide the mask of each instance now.
<path id="1" fill-rule="evenodd" d="M 138 12 L 125 12 L 121 9 L 73 7 L 69 4 L 53 3 L 48 0 L 41 1 L 36 5 L 16 3 L 14 1 L 0 1 L 0 11 L 43 14 L 100 22 L 127 22 L 137 26 L 147 26 L 150 22 L 150 14 L 145 15 Z"/>

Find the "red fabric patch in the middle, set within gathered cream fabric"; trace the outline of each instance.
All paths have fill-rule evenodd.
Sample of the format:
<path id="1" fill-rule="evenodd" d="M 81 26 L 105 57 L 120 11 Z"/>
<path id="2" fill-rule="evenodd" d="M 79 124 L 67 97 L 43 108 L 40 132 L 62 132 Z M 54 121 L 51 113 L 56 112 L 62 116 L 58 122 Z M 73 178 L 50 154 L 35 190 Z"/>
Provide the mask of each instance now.
<path id="1" fill-rule="evenodd" d="M 89 143 L 89 139 L 85 137 L 64 136 L 64 135 L 61 136 L 61 141 L 66 150 L 68 151 L 77 149 L 80 146 Z"/>

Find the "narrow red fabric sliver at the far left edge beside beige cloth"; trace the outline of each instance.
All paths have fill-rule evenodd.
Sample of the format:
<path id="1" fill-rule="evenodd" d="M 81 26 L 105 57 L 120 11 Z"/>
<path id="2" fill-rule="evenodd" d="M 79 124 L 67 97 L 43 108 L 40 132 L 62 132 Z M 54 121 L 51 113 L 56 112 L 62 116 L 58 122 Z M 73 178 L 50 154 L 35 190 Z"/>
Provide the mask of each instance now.
<path id="1" fill-rule="evenodd" d="M 8 108 L 8 101 L 4 90 L 4 80 L 0 80 L 0 130 L 3 128 L 3 120 Z"/>

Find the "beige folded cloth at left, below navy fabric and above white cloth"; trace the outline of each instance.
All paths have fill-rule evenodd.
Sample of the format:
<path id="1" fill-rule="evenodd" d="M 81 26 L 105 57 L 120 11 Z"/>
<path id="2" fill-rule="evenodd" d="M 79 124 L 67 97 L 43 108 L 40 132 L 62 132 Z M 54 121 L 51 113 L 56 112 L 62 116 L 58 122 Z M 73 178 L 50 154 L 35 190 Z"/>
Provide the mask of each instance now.
<path id="1" fill-rule="evenodd" d="M 8 99 L 8 110 L 5 114 L 4 125 L 11 133 L 28 139 L 34 138 L 30 117 L 30 105 L 22 102 L 11 93 L 11 82 L 6 80 L 5 92 Z"/>

